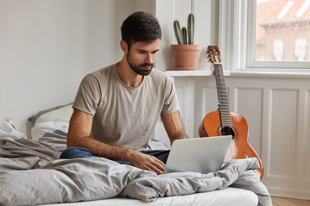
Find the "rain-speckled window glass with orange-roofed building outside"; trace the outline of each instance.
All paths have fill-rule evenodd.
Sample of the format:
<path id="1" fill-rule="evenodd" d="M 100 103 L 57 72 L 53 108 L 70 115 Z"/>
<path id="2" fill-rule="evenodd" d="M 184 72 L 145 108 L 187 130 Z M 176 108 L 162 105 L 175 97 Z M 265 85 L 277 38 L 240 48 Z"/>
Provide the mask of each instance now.
<path id="1" fill-rule="evenodd" d="M 257 0 L 256 61 L 310 61 L 310 0 Z"/>

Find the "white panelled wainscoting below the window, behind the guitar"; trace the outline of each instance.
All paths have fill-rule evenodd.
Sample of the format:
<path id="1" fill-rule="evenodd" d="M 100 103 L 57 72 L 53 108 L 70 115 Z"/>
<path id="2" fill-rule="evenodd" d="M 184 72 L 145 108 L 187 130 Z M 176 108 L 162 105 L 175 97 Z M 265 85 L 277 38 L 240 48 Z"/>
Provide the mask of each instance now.
<path id="1" fill-rule="evenodd" d="M 186 132 L 198 137 L 203 118 L 217 110 L 215 78 L 174 82 Z M 261 158 L 270 194 L 309 200 L 310 80 L 229 76 L 225 82 L 230 110 L 249 122 L 249 142 Z"/>

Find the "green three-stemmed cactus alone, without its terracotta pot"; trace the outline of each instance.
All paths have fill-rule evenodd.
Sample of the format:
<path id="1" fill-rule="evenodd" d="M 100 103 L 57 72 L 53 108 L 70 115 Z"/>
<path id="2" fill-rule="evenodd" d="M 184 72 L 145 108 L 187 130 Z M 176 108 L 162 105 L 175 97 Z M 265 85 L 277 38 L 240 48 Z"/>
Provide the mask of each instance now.
<path id="1" fill-rule="evenodd" d="M 194 26 L 195 18 L 192 13 L 187 18 L 187 29 L 183 27 L 181 31 L 179 21 L 175 20 L 173 22 L 174 34 L 178 44 L 194 44 Z"/>

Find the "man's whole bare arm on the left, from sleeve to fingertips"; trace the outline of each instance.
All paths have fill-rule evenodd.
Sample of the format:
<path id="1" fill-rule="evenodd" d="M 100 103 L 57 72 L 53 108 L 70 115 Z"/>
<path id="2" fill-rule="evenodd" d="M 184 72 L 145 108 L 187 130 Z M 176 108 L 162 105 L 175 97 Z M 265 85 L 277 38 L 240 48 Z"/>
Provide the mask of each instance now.
<path id="1" fill-rule="evenodd" d="M 90 138 L 92 124 L 92 115 L 74 109 L 69 124 L 67 147 L 87 148 L 92 155 L 110 160 L 126 160 L 141 169 L 154 171 L 157 174 L 162 173 L 165 165 L 153 156 L 121 146 L 104 144 Z"/>

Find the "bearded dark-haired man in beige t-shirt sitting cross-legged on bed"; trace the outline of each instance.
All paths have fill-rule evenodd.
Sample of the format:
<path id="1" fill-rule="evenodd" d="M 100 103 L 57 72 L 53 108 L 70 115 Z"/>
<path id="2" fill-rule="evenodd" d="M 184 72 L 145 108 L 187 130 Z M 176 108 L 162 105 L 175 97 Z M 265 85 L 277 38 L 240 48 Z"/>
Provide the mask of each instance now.
<path id="1" fill-rule="evenodd" d="M 161 29 L 156 18 L 135 12 L 123 22 L 121 35 L 122 60 L 85 76 L 80 84 L 68 148 L 60 158 L 98 156 L 161 174 L 169 151 L 146 150 L 158 118 L 171 143 L 187 138 L 173 82 L 153 69 Z"/>

